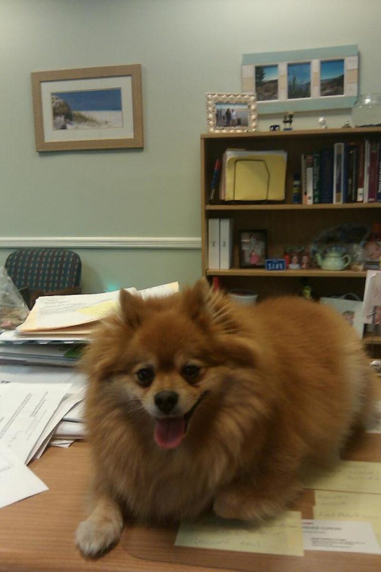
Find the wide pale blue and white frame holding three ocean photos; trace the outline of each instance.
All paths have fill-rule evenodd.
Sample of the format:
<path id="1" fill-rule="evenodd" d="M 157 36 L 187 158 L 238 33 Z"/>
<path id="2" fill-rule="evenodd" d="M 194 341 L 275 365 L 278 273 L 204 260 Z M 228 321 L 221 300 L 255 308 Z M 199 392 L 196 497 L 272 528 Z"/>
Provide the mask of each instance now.
<path id="1" fill-rule="evenodd" d="M 243 54 L 242 92 L 258 113 L 351 108 L 358 95 L 358 46 Z"/>

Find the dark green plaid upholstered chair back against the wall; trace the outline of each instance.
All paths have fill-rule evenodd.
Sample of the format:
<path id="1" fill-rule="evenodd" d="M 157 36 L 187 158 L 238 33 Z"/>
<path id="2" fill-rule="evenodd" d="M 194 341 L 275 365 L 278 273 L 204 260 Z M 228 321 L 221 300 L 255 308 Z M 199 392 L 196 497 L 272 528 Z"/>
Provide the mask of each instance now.
<path id="1" fill-rule="evenodd" d="M 81 258 L 62 248 L 20 248 L 5 262 L 11 280 L 32 308 L 38 296 L 81 293 Z"/>

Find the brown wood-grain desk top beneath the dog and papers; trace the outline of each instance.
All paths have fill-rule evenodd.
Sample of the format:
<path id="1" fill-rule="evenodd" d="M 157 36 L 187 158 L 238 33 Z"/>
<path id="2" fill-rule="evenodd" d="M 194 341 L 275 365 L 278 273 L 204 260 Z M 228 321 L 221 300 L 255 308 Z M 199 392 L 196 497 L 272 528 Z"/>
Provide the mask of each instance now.
<path id="1" fill-rule="evenodd" d="M 354 460 L 381 461 L 381 435 L 366 435 L 357 443 L 347 458 Z M 135 558 L 125 549 L 123 542 L 114 550 L 97 560 L 86 560 L 74 546 L 74 533 L 79 521 L 85 516 L 85 495 L 89 480 L 89 448 L 86 443 L 74 443 L 68 449 L 50 447 L 42 458 L 34 461 L 31 468 L 49 491 L 24 499 L 0 510 L 0 570 L 45 570 L 49 572 L 214 572 L 210 567 L 153 562 Z M 306 491 L 300 510 L 304 518 L 311 518 L 313 494 Z M 298 508 L 298 507 L 296 507 Z M 128 534 L 125 529 L 123 535 Z M 306 572 L 331 570 L 332 554 L 335 554 L 347 572 L 362 570 L 376 572 L 381 569 L 381 556 L 347 553 L 308 553 Z M 272 565 L 266 566 L 261 555 L 252 555 L 253 572 L 260 570 L 292 571 L 289 557 L 272 557 Z M 347 566 L 348 557 L 351 564 Z M 303 559 L 303 557 L 300 557 Z M 269 561 L 267 563 L 270 563 Z M 300 562 L 298 570 L 303 569 Z"/>

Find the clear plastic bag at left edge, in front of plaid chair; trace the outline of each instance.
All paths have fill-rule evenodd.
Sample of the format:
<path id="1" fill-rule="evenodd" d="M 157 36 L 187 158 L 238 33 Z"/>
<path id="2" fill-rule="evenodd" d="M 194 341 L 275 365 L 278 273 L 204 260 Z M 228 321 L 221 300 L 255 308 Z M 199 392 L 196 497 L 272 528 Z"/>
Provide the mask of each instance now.
<path id="1" fill-rule="evenodd" d="M 0 329 L 14 329 L 25 321 L 29 309 L 23 297 L 8 276 L 5 267 L 0 266 Z"/>

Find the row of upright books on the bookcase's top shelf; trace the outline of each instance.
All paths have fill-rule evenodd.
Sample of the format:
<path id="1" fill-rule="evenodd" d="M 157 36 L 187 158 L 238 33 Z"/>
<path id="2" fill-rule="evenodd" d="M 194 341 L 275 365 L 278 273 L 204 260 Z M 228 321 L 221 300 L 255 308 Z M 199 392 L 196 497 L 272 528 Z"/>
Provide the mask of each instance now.
<path id="1" fill-rule="evenodd" d="M 302 155 L 303 204 L 381 202 L 381 142 L 336 142 Z"/>

